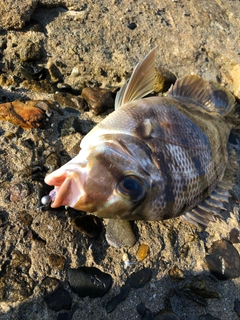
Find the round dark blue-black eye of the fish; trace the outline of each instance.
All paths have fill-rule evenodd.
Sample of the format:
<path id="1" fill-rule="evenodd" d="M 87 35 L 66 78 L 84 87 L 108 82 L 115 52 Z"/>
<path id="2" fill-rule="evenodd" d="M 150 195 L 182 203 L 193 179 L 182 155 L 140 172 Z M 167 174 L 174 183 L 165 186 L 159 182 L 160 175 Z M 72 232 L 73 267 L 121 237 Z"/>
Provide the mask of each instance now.
<path id="1" fill-rule="evenodd" d="M 117 190 L 134 202 L 141 200 L 146 193 L 143 181 L 133 175 L 123 177 L 118 183 Z"/>

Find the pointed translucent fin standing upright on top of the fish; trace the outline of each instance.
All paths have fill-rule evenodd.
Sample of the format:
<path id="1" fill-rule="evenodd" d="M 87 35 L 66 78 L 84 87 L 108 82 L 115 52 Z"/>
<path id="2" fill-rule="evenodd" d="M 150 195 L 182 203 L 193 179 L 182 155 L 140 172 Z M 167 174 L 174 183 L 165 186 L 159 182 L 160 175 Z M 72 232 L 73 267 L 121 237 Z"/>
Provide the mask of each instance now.
<path id="1" fill-rule="evenodd" d="M 131 78 L 118 91 L 115 110 L 129 101 L 141 99 L 154 90 L 156 50 L 157 47 L 136 65 Z"/>

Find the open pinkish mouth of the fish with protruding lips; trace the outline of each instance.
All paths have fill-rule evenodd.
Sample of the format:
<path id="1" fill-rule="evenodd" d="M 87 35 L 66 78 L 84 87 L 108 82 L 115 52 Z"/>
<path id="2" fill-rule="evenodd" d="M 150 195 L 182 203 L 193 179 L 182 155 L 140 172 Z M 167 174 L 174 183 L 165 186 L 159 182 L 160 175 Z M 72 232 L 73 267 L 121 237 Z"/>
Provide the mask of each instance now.
<path id="1" fill-rule="evenodd" d="M 87 179 L 87 170 L 78 166 L 73 169 L 60 168 L 45 178 L 48 185 L 54 186 L 50 191 L 51 207 L 69 206 L 75 204 L 84 195 L 84 184 Z"/>

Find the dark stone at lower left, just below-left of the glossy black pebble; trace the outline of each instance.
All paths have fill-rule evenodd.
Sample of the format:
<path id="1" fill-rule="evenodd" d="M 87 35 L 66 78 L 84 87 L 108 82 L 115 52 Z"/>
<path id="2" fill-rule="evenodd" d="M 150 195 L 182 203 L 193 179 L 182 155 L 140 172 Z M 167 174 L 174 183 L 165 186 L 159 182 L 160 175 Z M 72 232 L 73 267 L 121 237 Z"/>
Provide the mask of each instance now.
<path id="1" fill-rule="evenodd" d="M 72 305 L 72 298 L 70 294 L 60 288 L 54 292 L 51 292 L 44 297 L 48 307 L 54 311 L 59 311 L 62 309 L 70 309 Z"/>

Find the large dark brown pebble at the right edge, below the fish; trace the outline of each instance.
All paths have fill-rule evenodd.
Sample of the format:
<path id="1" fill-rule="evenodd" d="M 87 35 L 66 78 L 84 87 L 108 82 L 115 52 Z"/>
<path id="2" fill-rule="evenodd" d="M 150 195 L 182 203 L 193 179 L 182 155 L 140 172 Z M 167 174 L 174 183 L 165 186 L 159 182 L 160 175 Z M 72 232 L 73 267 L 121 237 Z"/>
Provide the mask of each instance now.
<path id="1" fill-rule="evenodd" d="M 240 256 L 231 242 L 219 240 L 213 243 L 206 261 L 211 273 L 219 280 L 240 276 Z"/>

